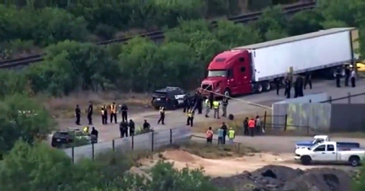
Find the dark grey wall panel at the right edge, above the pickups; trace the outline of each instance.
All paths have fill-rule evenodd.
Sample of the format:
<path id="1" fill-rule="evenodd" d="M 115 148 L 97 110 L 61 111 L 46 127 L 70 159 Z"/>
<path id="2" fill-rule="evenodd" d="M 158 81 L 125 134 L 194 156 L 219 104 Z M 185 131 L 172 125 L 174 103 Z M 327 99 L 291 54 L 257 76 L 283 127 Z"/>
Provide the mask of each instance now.
<path id="1" fill-rule="evenodd" d="M 365 132 L 365 104 L 332 104 L 331 132 Z"/>

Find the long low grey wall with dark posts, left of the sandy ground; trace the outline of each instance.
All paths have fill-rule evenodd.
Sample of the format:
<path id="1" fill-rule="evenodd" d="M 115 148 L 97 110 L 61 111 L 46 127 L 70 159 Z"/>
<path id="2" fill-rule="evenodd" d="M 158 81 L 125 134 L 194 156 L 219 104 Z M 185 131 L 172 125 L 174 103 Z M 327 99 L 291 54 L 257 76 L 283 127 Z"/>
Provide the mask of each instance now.
<path id="1" fill-rule="evenodd" d="M 153 134 L 153 135 L 152 135 Z M 153 136 L 153 139 L 152 139 Z M 182 127 L 172 129 L 172 142 L 181 143 L 189 140 L 192 136 L 190 127 Z M 158 131 L 154 133 L 147 133 L 134 136 L 133 150 L 152 150 L 152 140 L 154 149 L 170 144 L 170 130 Z M 99 155 L 105 151 L 110 151 L 113 148 L 112 141 L 100 142 L 94 144 L 94 156 Z M 132 138 L 120 138 L 114 140 L 114 148 L 117 152 L 130 152 L 132 150 Z M 64 149 L 65 153 L 72 158 L 72 148 Z M 74 162 L 81 158 L 92 158 L 92 145 L 84 145 L 74 147 Z"/>

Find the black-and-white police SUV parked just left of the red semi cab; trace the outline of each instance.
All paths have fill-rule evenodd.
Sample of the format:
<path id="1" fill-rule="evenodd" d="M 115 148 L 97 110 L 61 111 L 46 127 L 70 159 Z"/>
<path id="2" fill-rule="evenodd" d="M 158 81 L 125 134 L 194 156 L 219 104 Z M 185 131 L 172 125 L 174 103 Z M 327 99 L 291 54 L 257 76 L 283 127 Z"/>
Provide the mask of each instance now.
<path id="1" fill-rule="evenodd" d="M 183 89 L 168 86 L 153 92 L 151 105 L 156 109 L 176 109 L 183 106 L 185 96 L 187 93 Z"/>

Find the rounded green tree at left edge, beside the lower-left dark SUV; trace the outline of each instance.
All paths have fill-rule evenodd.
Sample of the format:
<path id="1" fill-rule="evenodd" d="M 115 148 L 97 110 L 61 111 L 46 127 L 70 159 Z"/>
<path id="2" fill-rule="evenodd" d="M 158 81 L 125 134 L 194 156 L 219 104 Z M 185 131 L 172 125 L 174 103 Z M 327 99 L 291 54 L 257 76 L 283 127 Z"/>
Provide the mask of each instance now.
<path id="1" fill-rule="evenodd" d="M 28 143 L 46 139 L 54 127 L 49 113 L 22 94 L 5 96 L 0 112 L 0 155 L 19 139 Z"/>

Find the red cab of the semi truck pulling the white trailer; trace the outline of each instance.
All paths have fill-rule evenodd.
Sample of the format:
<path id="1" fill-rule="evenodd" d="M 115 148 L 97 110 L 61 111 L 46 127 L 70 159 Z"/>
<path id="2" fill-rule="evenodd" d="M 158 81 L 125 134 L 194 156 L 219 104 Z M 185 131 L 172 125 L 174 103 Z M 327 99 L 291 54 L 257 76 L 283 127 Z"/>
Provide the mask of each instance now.
<path id="1" fill-rule="evenodd" d="M 207 95 L 208 91 L 225 96 L 251 93 L 252 80 L 251 53 L 245 49 L 224 51 L 209 64 L 208 76 L 201 82 L 202 94 Z"/>

